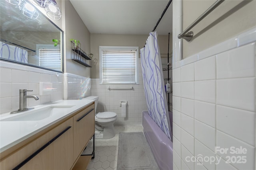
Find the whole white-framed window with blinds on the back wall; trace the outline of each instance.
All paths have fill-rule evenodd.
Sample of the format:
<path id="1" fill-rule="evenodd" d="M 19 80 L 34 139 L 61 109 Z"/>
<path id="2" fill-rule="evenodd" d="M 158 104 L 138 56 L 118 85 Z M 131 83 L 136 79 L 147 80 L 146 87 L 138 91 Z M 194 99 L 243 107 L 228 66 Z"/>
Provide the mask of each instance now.
<path id="1" fill-rule="evenodd" d="M 101 84 L 138 84 L 138 50 L 100 46 Z"/>

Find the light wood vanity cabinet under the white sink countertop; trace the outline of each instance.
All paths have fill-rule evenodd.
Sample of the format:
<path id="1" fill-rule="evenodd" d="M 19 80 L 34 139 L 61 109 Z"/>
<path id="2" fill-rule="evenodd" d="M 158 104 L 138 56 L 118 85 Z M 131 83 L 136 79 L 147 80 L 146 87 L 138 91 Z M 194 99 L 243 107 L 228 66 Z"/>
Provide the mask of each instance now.
<path id="1" fill-rule="evenodd" d="M 70 170 L 76 167 L 86 169 L 92 156 L 87 156 L 84 161 L 84 156 L 80 154 L 94 135 L 94 103 L 51 127 L 40 135 L 36 134 L 35 139 L 31 139 L 20 148 L 10 148 L 10 154 L 1 158 L 0 169 L 12 170 L 38 152 L 38 149 L 40 152 L 16 169 Z"/>

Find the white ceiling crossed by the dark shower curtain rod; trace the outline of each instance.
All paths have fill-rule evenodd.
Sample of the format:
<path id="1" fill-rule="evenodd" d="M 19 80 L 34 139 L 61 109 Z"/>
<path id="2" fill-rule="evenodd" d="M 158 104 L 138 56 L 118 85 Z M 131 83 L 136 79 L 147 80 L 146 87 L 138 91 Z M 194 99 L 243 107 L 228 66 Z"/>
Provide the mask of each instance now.
<path id="1" fill-rule="evenodd" d="M 169 0 L 70 0 L 90 33 L 148 35 Z M 159 35 L 172 32 L 172 3 L 160 21 Z"/>

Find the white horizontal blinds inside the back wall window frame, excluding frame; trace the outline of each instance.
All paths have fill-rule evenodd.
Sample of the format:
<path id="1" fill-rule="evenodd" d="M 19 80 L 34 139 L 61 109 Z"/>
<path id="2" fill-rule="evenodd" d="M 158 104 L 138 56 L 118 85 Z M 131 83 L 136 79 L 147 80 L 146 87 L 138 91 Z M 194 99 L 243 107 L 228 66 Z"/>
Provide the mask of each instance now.
<path id="1" fill-rule="evenodd" d="M 102 84 L 136 84 L 136 51 L 102 50 Z"/>

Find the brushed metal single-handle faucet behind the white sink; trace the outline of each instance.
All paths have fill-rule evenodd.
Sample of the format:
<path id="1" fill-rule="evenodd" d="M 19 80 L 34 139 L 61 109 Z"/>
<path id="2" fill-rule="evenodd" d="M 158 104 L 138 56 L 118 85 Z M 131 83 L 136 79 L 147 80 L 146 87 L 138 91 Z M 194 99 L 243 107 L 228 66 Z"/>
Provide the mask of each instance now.
<path id="1" fill-rule="evenodd" d="M 20 89 L 20 108 L 16 111 L 12 111 L 11 114 L 34 109 L 34 107 L 27 108 L 27 98 L 34 98 L 35 100 L 39 99 L 37 96 L 34 95 L 27 96 L 27 92 L 32 91 L 33 90 Z"/>

